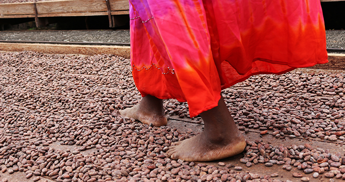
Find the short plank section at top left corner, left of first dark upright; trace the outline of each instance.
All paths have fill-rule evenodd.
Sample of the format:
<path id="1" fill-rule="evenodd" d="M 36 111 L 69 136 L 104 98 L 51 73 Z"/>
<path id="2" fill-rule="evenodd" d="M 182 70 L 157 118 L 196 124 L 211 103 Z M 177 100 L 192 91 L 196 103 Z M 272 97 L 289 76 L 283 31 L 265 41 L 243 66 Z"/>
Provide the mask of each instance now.
<path id="1" fill-rule="evenodd" d="M 32 2 L 3 3 L 0 4 L 0 17 L 5 15 L 33 14 Z"/>

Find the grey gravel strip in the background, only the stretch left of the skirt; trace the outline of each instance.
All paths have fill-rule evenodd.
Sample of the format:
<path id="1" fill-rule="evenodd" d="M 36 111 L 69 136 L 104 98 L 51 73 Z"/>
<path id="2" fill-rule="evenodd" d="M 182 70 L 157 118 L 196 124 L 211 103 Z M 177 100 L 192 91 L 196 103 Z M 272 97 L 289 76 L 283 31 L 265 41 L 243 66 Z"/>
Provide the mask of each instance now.
<path id="1" fill-rule="evenodd" d="M 129 43 L 129 30 L 0 31 L 0 40 L 121 42 Z"/>

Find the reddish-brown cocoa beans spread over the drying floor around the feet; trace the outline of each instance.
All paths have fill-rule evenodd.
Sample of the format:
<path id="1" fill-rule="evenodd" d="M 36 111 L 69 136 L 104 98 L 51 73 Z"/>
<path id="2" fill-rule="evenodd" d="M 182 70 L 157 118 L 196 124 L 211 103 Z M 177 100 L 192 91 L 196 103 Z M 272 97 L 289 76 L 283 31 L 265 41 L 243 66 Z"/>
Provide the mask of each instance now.
<path id="1" fill-rule="evenodd" d="M 222 91 L 239 129 L 276 138 L 345 140 L 345 74 L 256 75 Z M 238 91 L 236 89 L 247 89 Z M 1 172 L 57 182 L 255 181 L 279 182 L 222 162 L 217 165 L 170 160 L 172 142 L 196 135 L 122 117 L 140 94 L 129 60 L 114 55 L 52 55 L 0 52 Z M 165 113 L 188 118 L 188 106 L 164 101 Z M 202 123 L 200 117 L 190 121 Z M 52 143 L 75 146 L 53 148 Z M 277 166 L 294 178 L 345 179 L 343 151 L 305 145 L 272 145 L 247 140 L 240 162 L 245 168 Z M 93 151 L 92 151 L 93 150 Z M 87 152 L 88 151 L 88 152 Z M 85 154 L 84 152 L 87 152 Z M 288 182 L 288 181 L 286 181 Z"/>

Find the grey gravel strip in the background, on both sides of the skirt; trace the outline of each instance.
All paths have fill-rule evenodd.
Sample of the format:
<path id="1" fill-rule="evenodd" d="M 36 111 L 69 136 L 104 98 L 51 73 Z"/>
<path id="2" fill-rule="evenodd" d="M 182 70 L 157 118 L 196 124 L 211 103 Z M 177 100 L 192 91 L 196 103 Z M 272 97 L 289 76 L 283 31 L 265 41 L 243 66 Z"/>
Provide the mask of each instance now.
<path id="1" fill-rule="evenodd" d="M 327 48 L 345 48 L 344 37 L 345 30 L 326 30 Z M 129 43 L 129 30 L 0 31 L 0 40 Z"/>

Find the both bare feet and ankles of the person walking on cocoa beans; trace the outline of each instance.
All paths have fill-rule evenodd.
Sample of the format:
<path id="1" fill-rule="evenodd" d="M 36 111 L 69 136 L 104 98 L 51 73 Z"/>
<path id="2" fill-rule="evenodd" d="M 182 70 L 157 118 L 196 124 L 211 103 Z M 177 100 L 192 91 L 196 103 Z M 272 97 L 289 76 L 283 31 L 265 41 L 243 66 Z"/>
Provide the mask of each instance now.
<path id="1" fill-rule="evenodd" d="M 143 97 L 139 105 L 120 111 L 120 114 L 157 127 L 167 123 L 162 100 L 150 95 Z M 171 159 L 205 162 L 231 157 L 244 150 L 244 137 L 237 129 L 223 98 L 218 101 L 218 106 L 200 113 L 200 116 L 204 122 L 203 132 L 173 143 L 167 151 Z"/>

